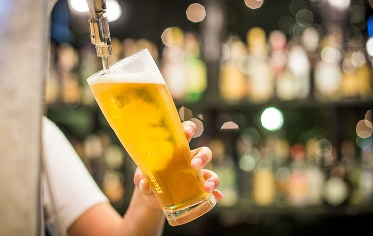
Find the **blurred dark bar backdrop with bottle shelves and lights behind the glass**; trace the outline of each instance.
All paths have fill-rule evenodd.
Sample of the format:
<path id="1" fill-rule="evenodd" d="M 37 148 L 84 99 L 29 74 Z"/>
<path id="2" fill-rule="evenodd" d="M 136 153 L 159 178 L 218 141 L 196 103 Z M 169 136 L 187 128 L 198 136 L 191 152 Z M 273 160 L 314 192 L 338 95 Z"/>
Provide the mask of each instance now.
<path id="1" fill-rule="evenodd" d="M 164 235 L 371 231 L 371 0 L 106 0 L 110 63 L 148 48 L 224 198 Z M 84 0 L 51 16 L 47 116 L 123 214 L 135 164 L 86 79 L 102 69 Z"/>

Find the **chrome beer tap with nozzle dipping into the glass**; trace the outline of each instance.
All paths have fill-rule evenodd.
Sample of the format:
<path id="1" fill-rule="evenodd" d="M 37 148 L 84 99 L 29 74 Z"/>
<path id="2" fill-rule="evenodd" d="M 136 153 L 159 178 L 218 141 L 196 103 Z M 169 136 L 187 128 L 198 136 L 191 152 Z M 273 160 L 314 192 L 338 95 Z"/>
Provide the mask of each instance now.
<path id="1" fill-rule="evenodd" d="M 91 18 L 89 32 L 91 42 L 96 46 L 96 54 L 101 57 L 103 71 L 109 69 L 108 56 L 112 54 L 109 22 L 105 16 L 106 0 L 86 0 Z"/>

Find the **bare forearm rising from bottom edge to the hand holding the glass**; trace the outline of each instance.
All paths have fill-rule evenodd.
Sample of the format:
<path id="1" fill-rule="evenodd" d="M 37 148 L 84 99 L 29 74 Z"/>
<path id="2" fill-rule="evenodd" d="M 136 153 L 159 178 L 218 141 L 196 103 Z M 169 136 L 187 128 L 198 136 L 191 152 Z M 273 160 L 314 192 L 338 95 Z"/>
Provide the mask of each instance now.
<path id="1" fill-rule="evenodd" d="M 160 208 L 149 204 L 147 196 L 135 187 L 130 206 L 113 236 L 162 235 L 165 217 Z"/>

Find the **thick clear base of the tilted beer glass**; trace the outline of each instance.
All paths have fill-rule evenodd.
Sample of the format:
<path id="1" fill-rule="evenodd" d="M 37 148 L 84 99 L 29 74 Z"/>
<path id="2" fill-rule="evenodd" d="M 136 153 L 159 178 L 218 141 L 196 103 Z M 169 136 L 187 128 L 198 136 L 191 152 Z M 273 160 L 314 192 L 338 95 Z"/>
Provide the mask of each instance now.
<path id="1" fill-rule="evenodd" d="M 210 195 L 205 200 L 198 202 L 192 206 L 178 208 L 174 210 L 164 210 L 166 219 L 171 226 L 188 223 L 202 216 L 216 205 L 214 195 Z"/>

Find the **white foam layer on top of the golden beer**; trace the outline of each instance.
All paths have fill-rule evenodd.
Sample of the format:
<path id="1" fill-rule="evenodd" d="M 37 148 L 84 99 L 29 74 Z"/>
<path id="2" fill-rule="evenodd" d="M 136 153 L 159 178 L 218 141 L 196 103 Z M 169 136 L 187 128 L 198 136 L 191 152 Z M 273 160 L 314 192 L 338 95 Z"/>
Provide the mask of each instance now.
<path id="1" fill-rule="evenodd" d="M 142 83 L 142 84 L 165 84 L 162 75 L 141 73 L 103 74 L 92 76 L 87 80 L 89 85 L 104 83 Z"/>

